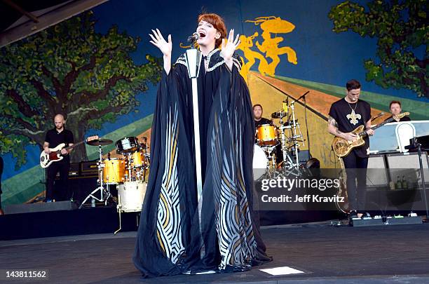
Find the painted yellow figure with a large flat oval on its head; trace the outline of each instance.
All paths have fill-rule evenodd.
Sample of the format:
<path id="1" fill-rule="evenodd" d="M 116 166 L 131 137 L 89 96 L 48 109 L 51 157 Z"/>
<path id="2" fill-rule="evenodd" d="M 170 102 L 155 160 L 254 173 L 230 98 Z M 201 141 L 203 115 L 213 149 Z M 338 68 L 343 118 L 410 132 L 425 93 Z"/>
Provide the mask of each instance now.
<path id="1" fill-rule="evenodd" d="M 258 17 L 254 20 L 247 20 L 246 22 L 254 22 L 254 25 L 260 25 L 262 29 L 262 43 L 259 41 L 256 42 L 256 46 L 261 53 L 266 54 L 266 58 L 271 58 L 271 62 L 268 64 L 264 73 L 273 76 L 275 74 L 275 68 L 280 63 L 279 55 L 287 54 L 287 61 L 296 65 L 297 62 L 297 53 L 295 50 L 289 46 L 278 47 L 279 43 L 283 41 L 281 36 L 277 34 L 286 34 L 292 32 L 295 26 L 287 20 L 282 20 L 280 17 L 270 16 L 270 17 Z M 275 34 L 275 37 L 271 38 L 271 34 Z M 262 72 L 261 72 L 262 73 Z"/>

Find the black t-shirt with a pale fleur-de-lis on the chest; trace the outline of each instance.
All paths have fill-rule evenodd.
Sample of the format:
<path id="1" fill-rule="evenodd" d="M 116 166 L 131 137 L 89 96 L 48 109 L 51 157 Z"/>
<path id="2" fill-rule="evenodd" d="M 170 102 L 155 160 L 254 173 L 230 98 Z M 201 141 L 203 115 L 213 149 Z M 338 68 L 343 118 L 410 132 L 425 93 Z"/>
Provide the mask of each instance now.
<path id="1" fill-rule="evenodd" d="M 354 111 L 353 111 L 354 110 Z M 354 114 L 353 114 L 354 112 Z M 343 133 L 352 132 L 358 126 L 364 126 L 371 119 L 371 107 L 363 100 L 350 104 L 344 98 L 334 102 L 329 110 L 329 116 L 338 123 L 338 129 Z M 353 149 L 357 156 L 365 158 L 368 156 L 369 137 L 364 137 L 365 144 Z"/>

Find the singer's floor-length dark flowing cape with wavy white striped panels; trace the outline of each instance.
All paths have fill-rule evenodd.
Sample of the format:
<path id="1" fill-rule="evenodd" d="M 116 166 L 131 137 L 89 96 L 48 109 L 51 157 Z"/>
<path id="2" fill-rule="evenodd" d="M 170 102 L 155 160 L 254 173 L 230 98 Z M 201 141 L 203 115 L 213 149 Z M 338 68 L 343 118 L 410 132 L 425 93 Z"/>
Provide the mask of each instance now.
<path id="1" fill-rule="evenodd" d="M 163 72 L 151 130 L 151 166 L 133 260 L 145 277 L 243 271 L 271 260 L 252 210 L 254 120 L 233 55 L 201 60 L 198 76 L 203 193 L 196 189 L 192 85 L 186 58 Z"/>

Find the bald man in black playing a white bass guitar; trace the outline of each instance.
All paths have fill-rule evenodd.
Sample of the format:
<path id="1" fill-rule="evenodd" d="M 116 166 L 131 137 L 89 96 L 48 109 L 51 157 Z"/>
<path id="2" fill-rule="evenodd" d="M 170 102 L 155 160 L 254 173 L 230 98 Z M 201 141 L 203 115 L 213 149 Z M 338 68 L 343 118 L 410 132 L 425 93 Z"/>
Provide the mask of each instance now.
<path id="1" fill-rule="evenodd" d="M 49 148 L 55 148 L 61 143 L 65 143 L 66 147 L 73 145 L 74 138 L 73 133 L 70 130 L 64 128 L 64 116 L 62 114 L 55 115 L 54 118 L 55 128 L 48 130 L 46 133 L 45 143 L 43 149 L 46 154 L 49 154 Z M 64 156 L 62 161 L 52 163 L 46 169 L 46 199 L 45 202 L 53 201 L 53 189 L 54 180 L 57 173 L 60 173 L 60 181 L 65 188 L 62 195 L 65 195 L 64 199 L 68 199 L 69 196 L 69 169 L 70 169 L 70 154 L 71 149 L 61 149 L 61 154 Z"/>

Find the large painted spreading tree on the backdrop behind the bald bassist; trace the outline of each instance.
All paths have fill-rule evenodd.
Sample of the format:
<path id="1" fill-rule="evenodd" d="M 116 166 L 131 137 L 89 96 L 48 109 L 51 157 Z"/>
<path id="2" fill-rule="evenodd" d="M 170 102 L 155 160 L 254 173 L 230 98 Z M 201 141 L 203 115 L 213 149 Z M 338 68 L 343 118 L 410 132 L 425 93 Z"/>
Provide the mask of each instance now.
<path id="1" fill-rule="evenodd" d="M 139 38 L 116 26 L 99 34 L 94 25 L 87 12 L 1 48 L 0 154 L 18 158 L 15 168 L 25 163 L 25 145 L 42 147 L 55 114 L 81 141 L 89 128 L 136 111 L 137 95 L 161 79 L 160 59 L 147 55 L 135 65 L 130 58 Z M 85 145 L 71 158 L 86 160 Z"/>

